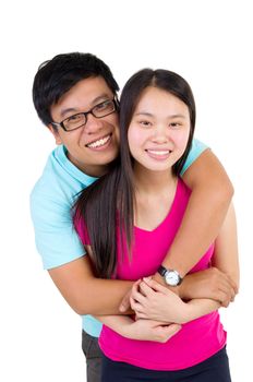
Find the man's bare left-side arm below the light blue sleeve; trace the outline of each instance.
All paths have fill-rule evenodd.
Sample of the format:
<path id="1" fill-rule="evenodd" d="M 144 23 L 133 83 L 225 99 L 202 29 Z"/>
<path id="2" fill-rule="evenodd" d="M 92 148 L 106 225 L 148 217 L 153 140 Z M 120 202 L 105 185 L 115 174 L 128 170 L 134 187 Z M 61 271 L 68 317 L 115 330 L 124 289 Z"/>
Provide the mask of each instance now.
<path id="1" fill-rule="evenodd" d="M 79 314 L 120 314 L 120 302 L 133 285 L 133 282 L 96 278 L 88 254 L 49 270 L 49 274 Z"/>

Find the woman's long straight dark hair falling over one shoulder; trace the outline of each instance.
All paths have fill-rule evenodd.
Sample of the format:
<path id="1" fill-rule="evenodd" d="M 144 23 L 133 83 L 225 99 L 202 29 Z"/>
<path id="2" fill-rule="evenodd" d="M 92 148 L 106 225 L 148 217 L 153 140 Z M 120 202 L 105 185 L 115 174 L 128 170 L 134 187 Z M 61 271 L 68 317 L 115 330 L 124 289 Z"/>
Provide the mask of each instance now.
<path id="1" fill-rule="evenodd" d="M 128 142 L 128 129 L 143 91 L 147 86 L 164 89 L 189 108 L 191 129 L 186 148 L 172 166 L 178 176 L 191 150 L 195 127 L 195 102 L 190 85 L 179 74 L 168 70 L 143 69 L 126 82 L 120 99 L 120 156 L 111 170 L 82 191 L 74 205 L 74 224 L 84 220 L 88 231 L 93 263 L 97 276 L 109 278 L 117 265 L 117 251 L 123 249 L 125 235 L 128 249 L 132 244 L 134 219 L 133 158 Z M 117 240 L 117 226 L 120 238 Z M 117 248 L 121 243 L 120 248 Z"/>

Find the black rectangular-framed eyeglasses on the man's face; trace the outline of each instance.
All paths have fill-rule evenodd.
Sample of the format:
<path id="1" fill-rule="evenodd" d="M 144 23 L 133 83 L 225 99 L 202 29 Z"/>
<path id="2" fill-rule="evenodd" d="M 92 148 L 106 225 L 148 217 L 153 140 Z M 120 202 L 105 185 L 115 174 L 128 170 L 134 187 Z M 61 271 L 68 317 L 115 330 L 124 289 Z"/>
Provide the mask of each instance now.
<path id="1" fill-rule="evenodd" d="M 100 104 L 95 105 L 91 110 L 77 112 L 70 116 L 61 122 L 51 122 L 51 124 L 61 127 L 64 131 L 73 131 L 87 122 L 87 115 L 93 115 L 95 118 L 103 118 L 109 116 L 118 109 L 118 102 L 116 99 L 107 99 Z"/>

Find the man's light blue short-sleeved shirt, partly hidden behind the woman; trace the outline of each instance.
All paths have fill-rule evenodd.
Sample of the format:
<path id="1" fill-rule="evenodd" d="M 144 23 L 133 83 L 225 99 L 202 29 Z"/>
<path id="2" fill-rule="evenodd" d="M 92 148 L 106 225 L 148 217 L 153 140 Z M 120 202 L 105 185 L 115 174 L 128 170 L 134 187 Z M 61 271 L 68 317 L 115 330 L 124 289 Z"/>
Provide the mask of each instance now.
<path id="1" fill-rule="evenodd" d="M 207 148 L 194 140 L 182 174 Z M 67 264 L 85 254 L 73 229 L 71 207 L 76 194 L 96 178 L 75 167 L 67 157 L 64 146 L 57 146 L 50 154 L 41 177 L 31 193 L 31 214 L 35 242 L 43 259 L 44 268 L 50 270 Z M 83 315 L 83 329 L 99 336 L 101 324 L 92 315 Z"/>

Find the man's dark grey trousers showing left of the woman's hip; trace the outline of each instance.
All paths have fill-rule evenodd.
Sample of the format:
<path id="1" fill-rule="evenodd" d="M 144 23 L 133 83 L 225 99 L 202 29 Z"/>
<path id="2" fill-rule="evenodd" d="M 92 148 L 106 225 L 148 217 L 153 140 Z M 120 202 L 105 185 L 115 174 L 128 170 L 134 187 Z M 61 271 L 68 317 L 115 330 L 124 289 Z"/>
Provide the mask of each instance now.
<path id="1" fill-rule="evenodd" d="M 86 357 L 87 382 L 101 381 L 101 350 L 98 338 L 82 332 L 82 348 Z"/>

